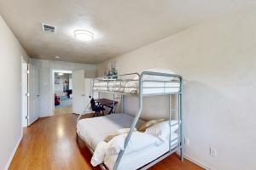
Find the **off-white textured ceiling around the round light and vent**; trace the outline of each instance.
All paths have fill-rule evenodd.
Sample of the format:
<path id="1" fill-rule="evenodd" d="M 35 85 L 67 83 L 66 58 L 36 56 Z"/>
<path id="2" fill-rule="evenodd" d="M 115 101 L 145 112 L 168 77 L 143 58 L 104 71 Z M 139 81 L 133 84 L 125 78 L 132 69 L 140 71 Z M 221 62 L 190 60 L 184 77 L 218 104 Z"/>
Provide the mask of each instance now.
<path id="1" fill-rule="evenodd" d="M 0 0 L 0 14 L 32 58 L 98 63 L 254 0 Z M 41 24 L 57 27 L 42 32 Z M 95 34 L 80 42 L 73 31 Z"/>

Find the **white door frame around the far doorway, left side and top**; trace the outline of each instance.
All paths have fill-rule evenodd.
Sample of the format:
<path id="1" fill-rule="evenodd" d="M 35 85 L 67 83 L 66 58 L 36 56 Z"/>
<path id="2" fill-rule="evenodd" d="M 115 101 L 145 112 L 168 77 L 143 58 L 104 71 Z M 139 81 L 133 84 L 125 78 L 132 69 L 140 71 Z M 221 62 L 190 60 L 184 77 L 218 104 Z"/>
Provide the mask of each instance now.
<path id="1" fill-rule="evenodd" d="M 50 69 L 50 107 L 51 107 L 51 114 L 50 116 L 55 116 L 55 71 L 71 71 L 71 74 L 73 74 L 72 69 Z"/>

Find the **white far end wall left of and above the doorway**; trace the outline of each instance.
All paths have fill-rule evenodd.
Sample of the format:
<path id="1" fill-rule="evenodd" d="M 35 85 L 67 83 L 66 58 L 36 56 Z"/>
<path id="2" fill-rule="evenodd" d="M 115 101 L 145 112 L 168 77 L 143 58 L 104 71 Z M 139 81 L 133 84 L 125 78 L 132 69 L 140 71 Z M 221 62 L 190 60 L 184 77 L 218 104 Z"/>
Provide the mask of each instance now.
<path id="1" fill-rule="evenodd" d="M 84 69 L 85 77 L 96 76 L 96 65 L 50 61 L 44 59 L 31 59 L 32 65 L 38 67 L 39 72 L 39 116 L 52 116 L 52 105 L 54 105 L 54 96 L 52 96 L 53 82 L 51 77 L 52 70 L 74 71 Z"/>

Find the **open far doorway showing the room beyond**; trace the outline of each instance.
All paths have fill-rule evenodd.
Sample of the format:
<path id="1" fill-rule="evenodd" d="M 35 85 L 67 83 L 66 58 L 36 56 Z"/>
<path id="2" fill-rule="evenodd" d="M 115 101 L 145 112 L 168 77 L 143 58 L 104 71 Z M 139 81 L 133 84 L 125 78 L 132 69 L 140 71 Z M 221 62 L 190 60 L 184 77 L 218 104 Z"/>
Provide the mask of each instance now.
<path id="1" fill-rule="evenodd" d="M 73 112 L 72 71 L 53 71 L 54 73 L 54 115 Z"/>

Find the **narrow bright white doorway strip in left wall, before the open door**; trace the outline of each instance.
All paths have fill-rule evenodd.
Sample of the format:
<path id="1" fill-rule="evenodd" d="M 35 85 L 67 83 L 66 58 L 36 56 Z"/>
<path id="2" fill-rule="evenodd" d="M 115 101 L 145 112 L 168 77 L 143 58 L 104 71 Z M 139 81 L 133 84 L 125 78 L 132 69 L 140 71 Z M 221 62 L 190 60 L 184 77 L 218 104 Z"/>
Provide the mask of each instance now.
<path id="1" fill-rule="evenodd" d="M 21 62 L 21 110 L 22 110 L 22 127 L 27 127 L 27 63 L 25 60 L 22 59 Z"/>

